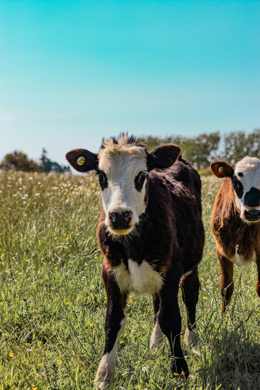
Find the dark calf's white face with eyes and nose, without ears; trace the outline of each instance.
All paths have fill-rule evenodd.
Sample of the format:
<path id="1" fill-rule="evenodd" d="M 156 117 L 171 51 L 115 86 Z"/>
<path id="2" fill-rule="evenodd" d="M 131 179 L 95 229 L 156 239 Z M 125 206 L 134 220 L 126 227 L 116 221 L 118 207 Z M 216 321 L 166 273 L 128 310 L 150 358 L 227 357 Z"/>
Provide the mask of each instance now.
<path id="1" fill-rule="evenodd" d="M 105 224 L 111 233 L 122 235 L 133 230 L 145 211 L 148 179 L 147 155 L 140 146 L 107 140 L 98 154 Z"/>

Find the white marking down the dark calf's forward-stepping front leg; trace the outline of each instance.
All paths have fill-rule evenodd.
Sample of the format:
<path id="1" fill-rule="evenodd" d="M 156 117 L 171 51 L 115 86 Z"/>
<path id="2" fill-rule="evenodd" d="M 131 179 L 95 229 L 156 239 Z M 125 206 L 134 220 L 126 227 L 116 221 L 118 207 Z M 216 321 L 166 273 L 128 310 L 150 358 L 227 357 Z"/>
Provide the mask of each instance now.
<path id="1" fill-rule="evenodd" d="M 103 358 L 101 359 L 97 374 L 95 378 L 95 382 L 99 381 L 97 384 L 99 389 L 109 388 L 113 379 L 115 378 L 115 355 L 117 352 L 117 343 L 119 341 L 119 337 L 122 335 L 124 328 L 126 326 L 126 310 L 124 310 L 124 318 L 120 323 L 120 330 L 117 333 L 117 339 L 115 340 L 115 344 L 110 352 L 107 352 Z"/>

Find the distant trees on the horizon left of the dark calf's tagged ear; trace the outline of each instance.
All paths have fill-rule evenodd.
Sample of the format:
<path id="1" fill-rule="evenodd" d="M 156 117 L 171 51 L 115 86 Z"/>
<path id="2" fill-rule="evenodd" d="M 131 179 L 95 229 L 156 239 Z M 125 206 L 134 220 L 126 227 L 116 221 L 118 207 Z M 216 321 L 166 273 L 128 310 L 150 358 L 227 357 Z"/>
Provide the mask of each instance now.
<path id="1" fill-rule="evenodd" d="M 0 169 L 3 170 L 21 170 L 24 172 L 56 172 L 56 173 L 70 173 L 71 168 L 66 165 L 60 165 L 55 161 L 51 161 L 47 157 L 46 149 L 42 149 L 42 154 L 39 163 L 30 160 L 27 154 L 19 151 L 8 153 L 0 163 Z"/>

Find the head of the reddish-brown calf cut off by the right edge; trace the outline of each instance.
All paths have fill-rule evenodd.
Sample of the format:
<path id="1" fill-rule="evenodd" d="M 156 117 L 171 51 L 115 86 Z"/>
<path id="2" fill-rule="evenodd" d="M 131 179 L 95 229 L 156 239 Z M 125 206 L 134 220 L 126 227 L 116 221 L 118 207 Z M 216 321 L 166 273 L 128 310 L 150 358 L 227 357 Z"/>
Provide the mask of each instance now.
<path id="1" fill-rule="evenodd" d="M 210 165 L 217 177 L 230 177 L 235 196 L 235 204 L 241 219 L 246 222 L 260 220 L 260 160 L 244 157 L 233 167 L 224 161 Z"/>

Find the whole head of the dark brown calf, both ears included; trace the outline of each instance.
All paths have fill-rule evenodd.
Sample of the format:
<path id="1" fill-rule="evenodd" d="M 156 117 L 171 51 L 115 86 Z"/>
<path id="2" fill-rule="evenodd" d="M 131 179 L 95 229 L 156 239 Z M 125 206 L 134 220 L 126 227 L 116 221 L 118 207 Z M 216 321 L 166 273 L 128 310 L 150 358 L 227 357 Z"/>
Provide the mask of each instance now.
<path id="1" fill-rule="evenodd" d="M 112 234 L 125 235 L 145 212 L 150 170 L 170 167 L 180 152 L 179 146 L 173 144 L 147 152 L 135 137 L 122 134 L 104 140 L 98 154 L 74 149 L 66 158 L 80 172 L 96 170 L 106 214 L 104 222 Z"/>

